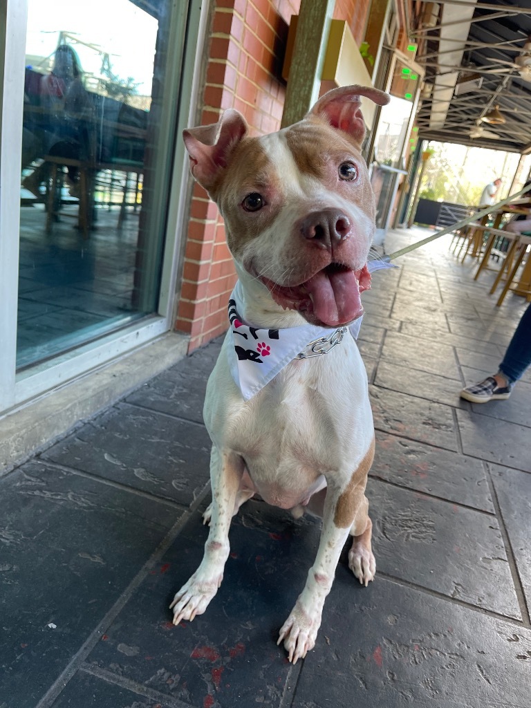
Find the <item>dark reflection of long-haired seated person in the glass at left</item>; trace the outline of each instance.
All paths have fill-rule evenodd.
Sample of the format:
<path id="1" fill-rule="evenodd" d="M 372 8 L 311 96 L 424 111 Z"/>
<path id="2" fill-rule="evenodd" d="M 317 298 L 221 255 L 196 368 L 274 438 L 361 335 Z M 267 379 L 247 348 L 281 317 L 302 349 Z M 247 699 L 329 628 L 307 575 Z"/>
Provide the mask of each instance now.
<path id="1" fill-rule="evenodd" d="M 50 74 L 42 76 L 26 71 L 25 84 L 22 169 L 46 155 L 86 160 L 93 105 L 72 47 L 59 45 Z M 76 166 L 67 169 L 67 184 L 75 195 L 79 170 Z M 43 161 L 24 178 L 22 185 L 40 197 L 40 185 L 49 176 L 50 163 Z"/>

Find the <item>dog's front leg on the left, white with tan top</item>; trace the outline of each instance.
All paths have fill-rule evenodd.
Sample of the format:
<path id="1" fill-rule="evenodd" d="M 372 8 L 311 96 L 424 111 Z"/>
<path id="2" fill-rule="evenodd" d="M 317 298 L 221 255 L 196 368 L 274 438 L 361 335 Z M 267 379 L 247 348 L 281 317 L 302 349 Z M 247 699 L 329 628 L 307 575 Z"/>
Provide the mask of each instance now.
<path id="1" fill-rule="evenodd" d="M 181 619 L 191 622 L 195 615 L 202 615 L 221 585 L 229 557 L 229 526 L 243 473 L 244 460 L 239 455 L 230 450 L 219 452 L 212 446 L 212 516 L 205 554 L 197 571 L 173 598 L 170 605 L 173 624 L 178 624 Z"/>

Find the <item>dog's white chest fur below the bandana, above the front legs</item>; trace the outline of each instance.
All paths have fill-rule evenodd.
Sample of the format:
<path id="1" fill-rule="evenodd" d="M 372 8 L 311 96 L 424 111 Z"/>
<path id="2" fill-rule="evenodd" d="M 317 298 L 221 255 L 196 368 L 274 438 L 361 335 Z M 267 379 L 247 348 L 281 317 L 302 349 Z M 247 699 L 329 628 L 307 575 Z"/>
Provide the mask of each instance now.
<path id="1" fill-rule="evenodd" d="M 254 489 L 268 503 L 307 503 L 329 472 L 346 483 L 374 435 L 367 376 L 354 339 L 321 357 L 293 360 L 250 401 L 229 372 L 225 338 L 205 399 L 205 425 L 244 459 Z"/>

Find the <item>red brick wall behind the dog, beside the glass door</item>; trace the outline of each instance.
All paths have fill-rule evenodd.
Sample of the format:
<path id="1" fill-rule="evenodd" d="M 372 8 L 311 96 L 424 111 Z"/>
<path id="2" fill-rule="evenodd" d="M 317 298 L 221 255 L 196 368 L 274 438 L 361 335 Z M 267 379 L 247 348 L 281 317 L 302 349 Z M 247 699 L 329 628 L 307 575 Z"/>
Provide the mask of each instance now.
<path id="1" fill-rule="evenodd" d="M 370 0 L 337 0 L 334 17 L 348 20 L 357 42 Z M 251 135 L 278 130 L 285 84 L 280 78 L 290 18 L 300 0 L 216 0 L 201 124 L 236 108 Z M 190 334 L 189 350 L 227 329 L 227 302 L 236 282 L 222 218 L 195 185 L 176 329 Z"/>

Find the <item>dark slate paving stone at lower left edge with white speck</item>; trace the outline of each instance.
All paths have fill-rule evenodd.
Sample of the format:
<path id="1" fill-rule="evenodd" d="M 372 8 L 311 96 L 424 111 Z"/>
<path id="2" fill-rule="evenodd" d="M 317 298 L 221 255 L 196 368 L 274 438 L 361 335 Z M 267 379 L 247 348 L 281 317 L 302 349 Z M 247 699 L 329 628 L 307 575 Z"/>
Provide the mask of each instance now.
<path id="1" fill-rule="evenodd" d="M 33 708 L 179 512 L 36 462 L 0 489 L 0 705 Z"/>

